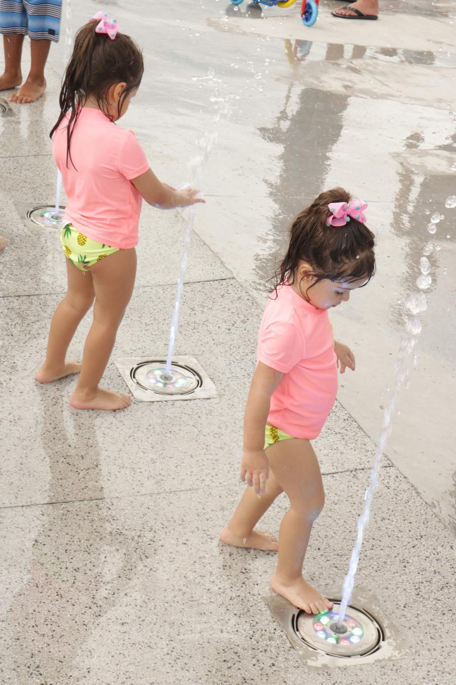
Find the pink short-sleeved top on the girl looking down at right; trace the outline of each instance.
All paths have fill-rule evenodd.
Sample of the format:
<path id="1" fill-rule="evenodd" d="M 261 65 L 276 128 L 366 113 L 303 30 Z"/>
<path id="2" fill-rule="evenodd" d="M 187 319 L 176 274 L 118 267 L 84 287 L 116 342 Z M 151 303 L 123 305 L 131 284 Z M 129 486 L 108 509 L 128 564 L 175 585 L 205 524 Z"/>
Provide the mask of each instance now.
<path id="1" fill-rule="evenodd" d="M 284 375 L 271 397 L 268 423 L 294 438 L 312 440 L 338 390 L 334 339 L 327 310 L 288 285 L 268 300 L 259 328 L 257 361 Z"/>

